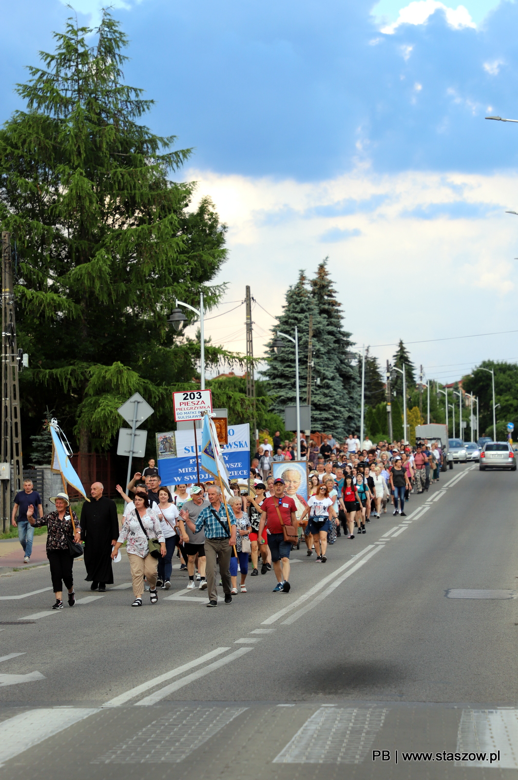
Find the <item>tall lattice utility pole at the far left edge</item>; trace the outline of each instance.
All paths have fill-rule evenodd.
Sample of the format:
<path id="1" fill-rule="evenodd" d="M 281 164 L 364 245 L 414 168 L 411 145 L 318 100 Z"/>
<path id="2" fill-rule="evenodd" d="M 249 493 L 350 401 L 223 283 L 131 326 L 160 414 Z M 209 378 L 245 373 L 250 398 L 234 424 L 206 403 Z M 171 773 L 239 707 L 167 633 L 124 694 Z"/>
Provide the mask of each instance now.
<path id="1" fill-rule="evenodd" d="M 1 480 L 0 512 L 5 534 L 9 530 L 11 494 L 21 490 L 23 482 L 20 390 L 11 258 L 11 237 L 2 231 L 2 463 L 9 475 Z"/>

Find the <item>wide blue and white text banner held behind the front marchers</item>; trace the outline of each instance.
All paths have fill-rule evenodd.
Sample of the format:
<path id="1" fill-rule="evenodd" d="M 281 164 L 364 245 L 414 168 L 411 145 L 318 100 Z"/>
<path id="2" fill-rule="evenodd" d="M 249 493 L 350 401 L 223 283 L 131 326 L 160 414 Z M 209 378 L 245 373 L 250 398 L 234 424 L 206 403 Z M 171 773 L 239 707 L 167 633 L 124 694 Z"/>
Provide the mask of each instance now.
<path id="1" fill-rule="evenodd" d="M 196 431 L 198 456 L 201 452 L 201 431 Z M 165 451 L 166 450 L 166 451 Z M 172 456 L 172 453 L 176 457 Z M 223 459 L 231 480 L 247 480 L 250 473 L 250 425 L 229 425 L 229 443 L 222 445 Z M 174 431 L 157 434 L 158 473 L 161 484 L 197 482 L 194 431 Z M 214 480 L 201 468 L 200 480 Z"/>

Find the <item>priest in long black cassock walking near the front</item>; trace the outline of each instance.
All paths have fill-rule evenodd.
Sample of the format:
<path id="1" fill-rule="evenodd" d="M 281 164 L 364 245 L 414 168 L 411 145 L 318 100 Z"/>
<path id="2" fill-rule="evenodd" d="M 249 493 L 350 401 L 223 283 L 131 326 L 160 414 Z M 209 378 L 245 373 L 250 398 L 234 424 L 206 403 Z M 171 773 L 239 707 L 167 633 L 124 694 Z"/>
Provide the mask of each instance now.
<path id="1" fill-rule="evenodd" d="M 104 593 L 106 584 L 113 582 L 112 547 L 119 537 L 117 505 L 102 495 L 105 488 L 94 482 L 90 488 L 91 500 L 81 509 L 81 539 L 84 542 L 84 565 L 90 590 Z"/>

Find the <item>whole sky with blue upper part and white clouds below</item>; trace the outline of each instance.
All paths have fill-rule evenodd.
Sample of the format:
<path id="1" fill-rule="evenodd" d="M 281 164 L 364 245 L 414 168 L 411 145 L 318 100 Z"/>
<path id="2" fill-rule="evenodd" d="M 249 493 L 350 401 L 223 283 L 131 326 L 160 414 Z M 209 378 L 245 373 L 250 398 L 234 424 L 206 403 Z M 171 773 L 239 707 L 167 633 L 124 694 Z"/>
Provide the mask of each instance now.
<path id="1" fill-rule="evenodd" d="M 101 5 L 73 3 L 86 24 Z M 288 285 L 328 257 L 344 327 L 381 363 L 400 338 L 442 382 L 518 360 L 518 126 L 484 119 L 518 119 L 518 4 L 112 5 L 126 79 L 156 101 L 147 124 L 193 148 L 176 176 L 229 228 L 206 337 L 245 351 L 250 285 L 263 355 Z M 61 0 L 4 5 L 2 121 L 69 15 Z"/>

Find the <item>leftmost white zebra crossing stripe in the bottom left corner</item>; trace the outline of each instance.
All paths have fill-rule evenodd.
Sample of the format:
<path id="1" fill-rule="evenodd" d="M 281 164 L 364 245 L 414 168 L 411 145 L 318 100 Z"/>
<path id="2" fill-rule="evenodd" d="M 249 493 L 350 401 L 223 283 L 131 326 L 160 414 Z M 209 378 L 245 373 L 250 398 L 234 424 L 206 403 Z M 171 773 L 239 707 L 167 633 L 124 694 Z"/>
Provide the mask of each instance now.
<path id="1" fill-rule="evenodd" d="M 9 758 L 20 755 L 44 739 L 54 736 L 63 729 L 82 721 L 98 709 L 78 707 L 51 707 L 29 710 L 14 718 L 2 721 L 2 742 L 0 742 L 0 766 Z"/>

